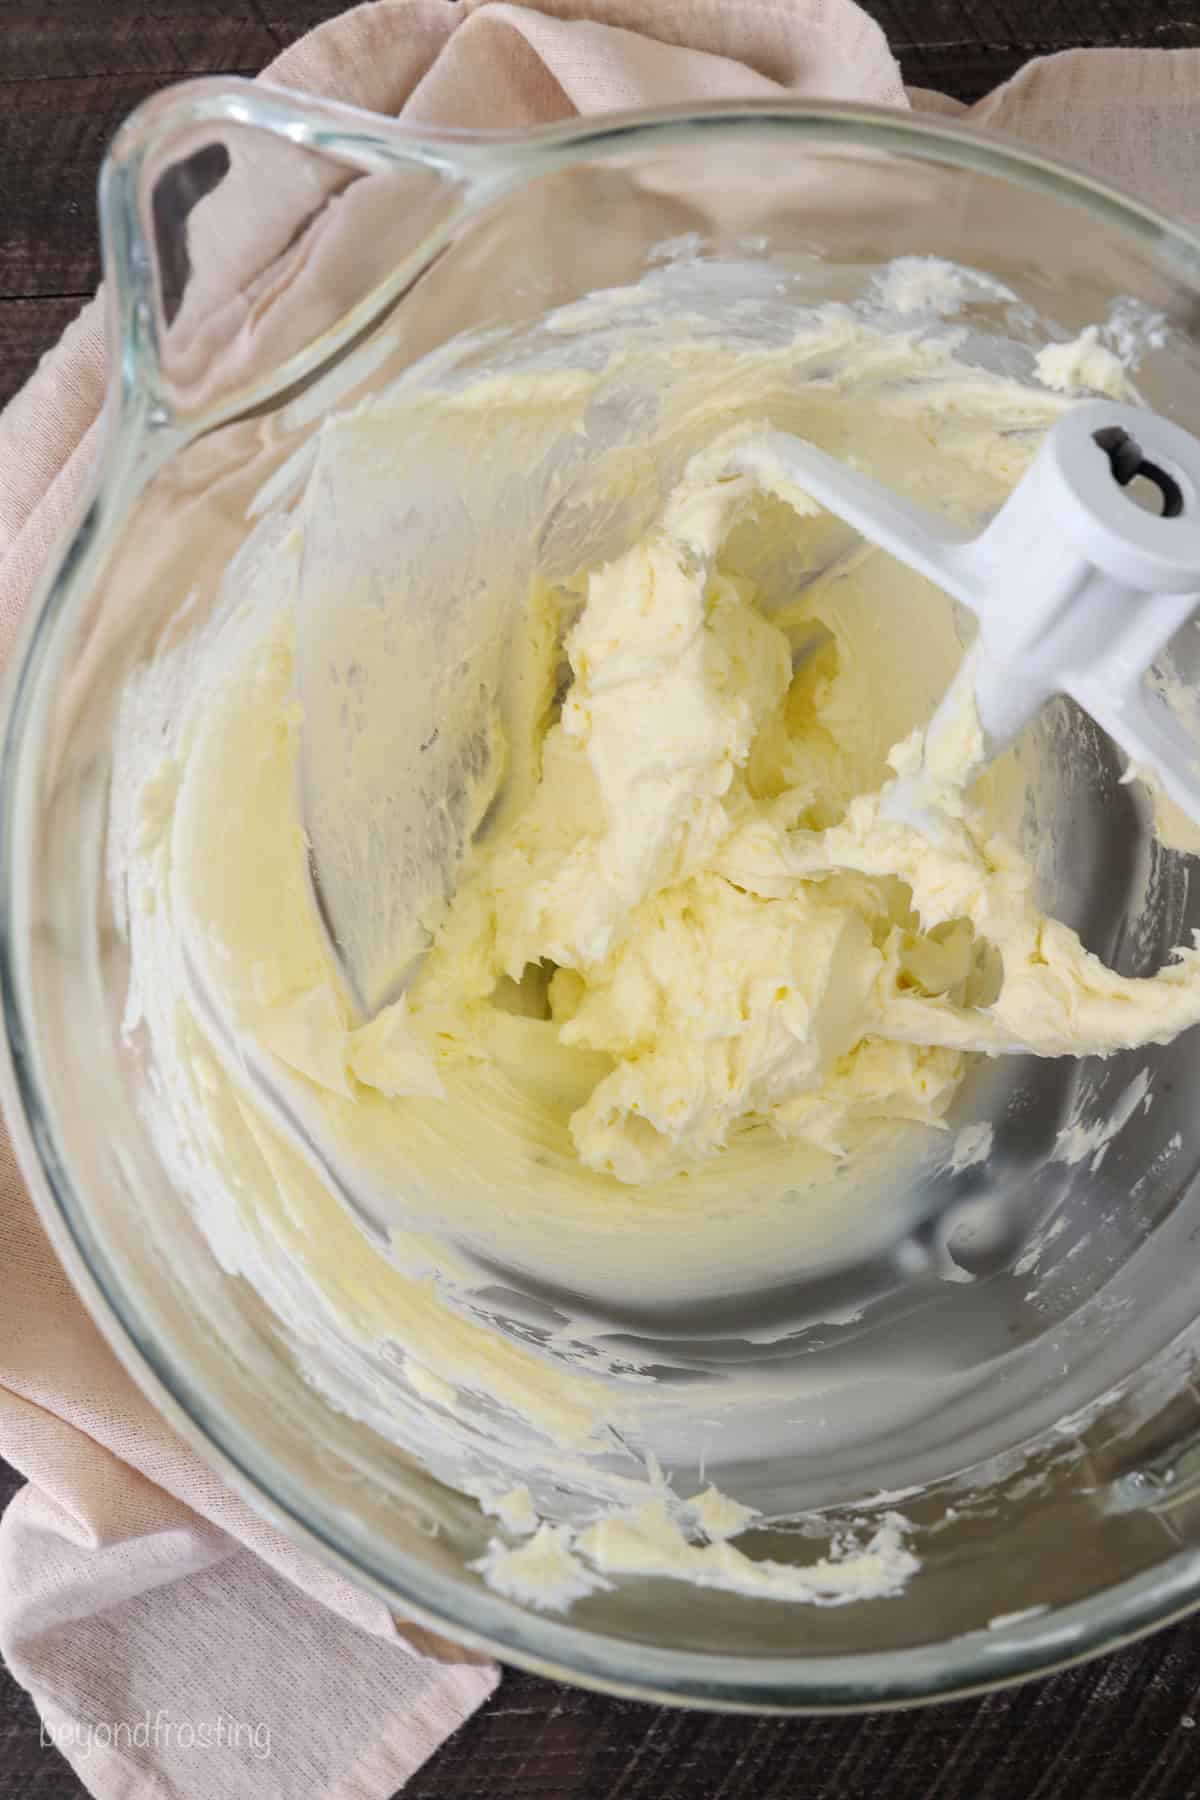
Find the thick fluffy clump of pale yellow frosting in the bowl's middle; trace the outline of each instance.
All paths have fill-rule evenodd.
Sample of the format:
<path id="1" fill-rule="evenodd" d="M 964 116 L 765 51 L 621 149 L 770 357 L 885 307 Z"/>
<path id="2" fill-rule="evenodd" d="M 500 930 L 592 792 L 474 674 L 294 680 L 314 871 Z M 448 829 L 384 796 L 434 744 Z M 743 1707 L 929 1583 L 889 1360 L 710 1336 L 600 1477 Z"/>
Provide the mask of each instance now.
<path id="1" fill-rule="evenodd" d="M 426 1012 L 444 1031 L 450 1006 L 470 1044 L 497 983 L 551 970 L 547 1030 L 612 1060 L 574 1145 L 626 1183 L 700 1165 L 752 1121 L 835 1154 L 860 1116 L 936 1123 L 961 1051 L 1108 1053 L 1200 1017 L 1195 949 L 1132 981 L 1040 913 L 1029 864 L 966 792 L 970 707 L 932 758 L 934 835 L 889 815 L 887 783 L 847 792 L 840 671 L 864 646 L 820 589 L 768 621 L 723 572 L 765 499 L 723 472 L 727 448 L 592 572 L 536 792 L 412 995 L 417 1031 Z M 797 529 L 815 515 L 774 488 Z M 919 760 L 919 729 L 889 754 L 905 774 Z"/>

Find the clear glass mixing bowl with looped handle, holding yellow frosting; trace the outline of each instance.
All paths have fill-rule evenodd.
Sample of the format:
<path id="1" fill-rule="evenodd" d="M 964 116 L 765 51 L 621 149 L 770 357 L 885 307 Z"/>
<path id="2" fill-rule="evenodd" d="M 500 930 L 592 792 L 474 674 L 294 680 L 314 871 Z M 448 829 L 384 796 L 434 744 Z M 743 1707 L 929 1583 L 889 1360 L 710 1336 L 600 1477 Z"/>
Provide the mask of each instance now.
<path id="1" fill-rule="evenodd" d="M 1108 1062 L 1011 1064 L 1002 1094 L 984 1069 L 963 1107 L 997 1120 L 991 1156 L 927 1195 L 889 1256 L 824 1271 L 819 1296 L 801 1282 L 714 1301 L 691 1334 L 676 1325 L 666 1379 L 712 1375 L 714 1345 L 750 1354 L 739 1319 L 765 1309 L 781 1323 L 763 1354 L 797 1382 L 837 1379 L 842 1429 L 781 1435 L 734 1490 L 766 1510 L 907 1490 L 921 1571 L 903 1595 L 813 1609 L 621 1580 L 552 1618 L 484 1586 L 468 1566 L 489 1535 L 475 1503 L 326 1404 L 261 1296 L 214 1256 L 140 1107 L 106 855 L 128 671 L 286 497 L 322 418 L 461 333 L 486 365 L 538 342 L 549 310 L 649 268 L 716 297 L 720 319 L 786 315 L 855 299 L 919 252 L 1011 290 L 964 310 L 968 360 L 1020 373 L 1047 335 L 1153 319 L 1141 392 L 1200 430 L 1200 241 L 1016 144 L 871 108 L 471 135 L 245 83 L 140 108 L 106 162 L 101 216 L 104 446 L 9 677 L 0 983 L 25 1172 L 135 1379 L 230 1485 L 399 1613 L 628 1694 L 781 1710 L 961 1694 L 1193 1606 L 1195 1033 Z M 763 293 L 766 313 L 743 308 Z M 536 554 L 536 531 L 527 542 Z M 466 549 L 443 551 L 453 572 Z M 1189 657 L 1180 641 L 1184 679 Z M 1121 968 L 1153 970 L 1200 923 L 1189 859 L 1151 842 L 1096 733 L 1054 707 L 1038 729 L 1063 770 L 1045 898 Z M 1063 1118 L 1141 1102 L 1135 1082 L 1153 1105 L 1130 1103 L 1103 1156 L 1052 1159 Z M 885 1395 L 891 1429 L 878 1404 L 869 1431 L 856 1424 L 864 1390 Z M 786 1561 L 811 1543 L 763 1530 L 748 1548 Z"/>

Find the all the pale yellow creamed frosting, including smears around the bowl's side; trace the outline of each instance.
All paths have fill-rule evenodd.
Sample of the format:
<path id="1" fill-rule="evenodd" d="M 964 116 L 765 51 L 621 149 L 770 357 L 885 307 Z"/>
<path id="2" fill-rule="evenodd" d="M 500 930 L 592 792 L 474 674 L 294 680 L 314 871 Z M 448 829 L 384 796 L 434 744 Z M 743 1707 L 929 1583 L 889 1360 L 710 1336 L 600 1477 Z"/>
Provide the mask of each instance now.
<path id="1" fill-rule="evenodd" d="M 130 691 L 128 1024 L 153 1051 L 164 1159 L 221 1264 L 333 1404 L 522 1539 L 488 1550 L 493 1586 L 561 1607 L 633 1570 L 842 1604 L 909 1577 L 900 1525 L 811 1570 L 750 1561 L 729 1543 L 750 1508 L 718 1489 L 676 1505 L 646 1476 L 660 1435 L 682 1442 L 685 1390 L 597 1350 L 587 1314 L 534 1343 L 475 1291 L 502 1267 L 599 1318 L 891 1242 L 887 1206 L 970 1051 L 1166 1039 L 1200 1017 L 1200 970 L 1184 949 L 1153 981 L 1119 977 L 1040 913 L 1016 844 L 1033 770 L 1009 754 L 966 787 L 966 715 L 939 743 L 937 842 L 889 815 L 961 621 L 783 475 L 723 475 L 729 443 L 770 419 L 972 522 L 1065 401 L 846 308 L 754 351 L 680 329 L 648 367 L 653 443 L 592 472 L 637 529 L 502 596 L 500 790 L 473 797 L 484 830 L 416 979 L 369 1021 L 313 907 L 297 783 L 297 594 L 326 475 L 345 531 L 365 531 L 372 472 L 401 481 L 417 423 L 459 461 L 504 428 L 534 466 L 585 432 L 606 382 L 628 392 L 644 371 L 621 351 L 599 371 L 491 373 L 326 428 L 322 479 L 230 571 L 198 641 Z M 376 608 L 380 643 L 385 625 Z M 455 661 L 462 693 L 477 673 Z M 401 718 L 428 711 L 425 671 L 412 682 Z M 407 779 L 392 743 L 354 754 Z M 383 1348 L 399 1400 L 372 1386 Z M 712 1417 L 720 1442 L 756 1395 L 752 1372 L 705 1391 L 702 1453 Z"/>

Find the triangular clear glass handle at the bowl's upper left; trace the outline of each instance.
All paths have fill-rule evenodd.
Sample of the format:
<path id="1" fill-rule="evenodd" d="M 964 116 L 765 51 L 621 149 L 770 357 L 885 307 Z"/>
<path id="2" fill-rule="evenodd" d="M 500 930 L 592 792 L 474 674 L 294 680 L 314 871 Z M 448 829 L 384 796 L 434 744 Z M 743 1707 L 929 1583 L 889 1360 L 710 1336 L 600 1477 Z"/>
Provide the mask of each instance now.
<path id="1" fill-rule="evenodd" d="M 504 160 L 257 81 L 148 101 L 99 194 L 122 410 L 191 436 L 306 380 L 419 281 Z"/>

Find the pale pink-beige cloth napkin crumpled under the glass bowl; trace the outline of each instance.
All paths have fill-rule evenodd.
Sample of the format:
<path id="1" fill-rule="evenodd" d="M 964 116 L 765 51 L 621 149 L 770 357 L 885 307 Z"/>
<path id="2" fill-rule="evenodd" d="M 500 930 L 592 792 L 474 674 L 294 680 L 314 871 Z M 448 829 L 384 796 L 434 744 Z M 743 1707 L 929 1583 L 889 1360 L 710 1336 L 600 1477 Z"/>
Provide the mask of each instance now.
<path id="1" fill-rule="evenodd" d="M 376 0 L 270 79 L 443 126 L 837 95 L 963 112 L 1200 209 L 1200 52 L 1042 58 L 977 106 L 905 94 L 853 0 Z M 0 655 L 97 450 L 97 302 L 0 416 Z M 158 1418 L 61 1273 L 0 1141 L 0 1651 L 103 1800 L 385 1800 L 497 1672 L 281 1537 Z"/>

